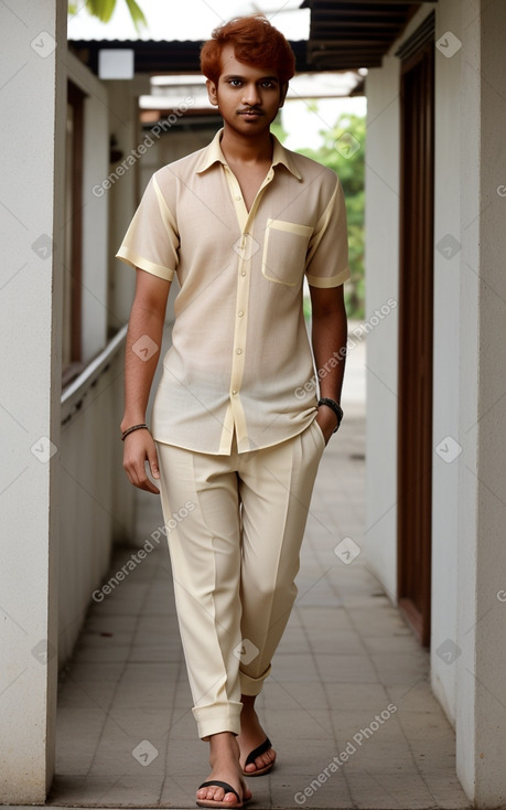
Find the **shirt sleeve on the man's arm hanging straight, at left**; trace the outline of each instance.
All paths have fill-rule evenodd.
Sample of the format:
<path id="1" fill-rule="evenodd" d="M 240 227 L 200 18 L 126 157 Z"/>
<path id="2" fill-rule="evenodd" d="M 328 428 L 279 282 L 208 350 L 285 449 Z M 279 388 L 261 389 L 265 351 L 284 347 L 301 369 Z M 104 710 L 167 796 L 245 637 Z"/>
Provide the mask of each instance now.
<path id="1" fill-rule="evenodd" d="M 116 257 L 131 267 L 172 281 L 177 268 L 179 244 L 175 219 L 153 174 Z"/>

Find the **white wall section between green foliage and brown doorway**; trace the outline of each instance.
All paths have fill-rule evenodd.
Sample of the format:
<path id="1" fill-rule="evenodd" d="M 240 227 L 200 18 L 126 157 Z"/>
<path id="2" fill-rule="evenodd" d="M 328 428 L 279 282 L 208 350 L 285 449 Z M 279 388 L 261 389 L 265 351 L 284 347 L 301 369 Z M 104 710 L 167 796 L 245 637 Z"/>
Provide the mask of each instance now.
<path id="1" fill-rule="evenodd" d="M 366 322 L 399 295 L 399 61 L 384 60 L 366 79 Z M 367 559 L 397 598 L 398 309 L 367 337 Z M 374 321 L 373 321 L 374 322 Z"/>

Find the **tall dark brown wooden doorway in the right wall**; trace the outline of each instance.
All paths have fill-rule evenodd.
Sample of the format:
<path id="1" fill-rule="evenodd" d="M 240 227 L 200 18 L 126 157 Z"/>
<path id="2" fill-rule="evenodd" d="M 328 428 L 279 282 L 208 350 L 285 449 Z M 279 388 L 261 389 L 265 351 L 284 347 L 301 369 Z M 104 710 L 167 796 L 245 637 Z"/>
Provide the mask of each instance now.
<path id="1" fill-rule="evenodd" d="M 430 642 L 433 326 L 433 19 L 405 43 L 399 278 L 398 599 Z"/>

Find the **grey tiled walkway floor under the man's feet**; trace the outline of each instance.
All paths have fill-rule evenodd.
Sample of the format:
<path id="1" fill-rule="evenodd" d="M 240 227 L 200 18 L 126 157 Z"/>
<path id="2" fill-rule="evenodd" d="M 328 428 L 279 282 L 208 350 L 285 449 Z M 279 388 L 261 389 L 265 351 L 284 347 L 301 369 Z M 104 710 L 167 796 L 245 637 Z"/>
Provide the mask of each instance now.
<path id="1" fill-rule="evenodd" d="M 336 438 L 319 472 L 297 605 L 258 701 L 279 764 L 249 780 L 248 807 L 467 808 L 428 656 L 364 555 L 353 558 L 364 531 L 362 405 L 347 407 Z M 148 539 L 158 499 L 141 499 L 139 518 Z M 118 552 L 111 574 L 132 551 Z M 160 545 L 89 614 L 61 688 L 49 803 L 194 807 L 208 766 L 190 707 Z"/>

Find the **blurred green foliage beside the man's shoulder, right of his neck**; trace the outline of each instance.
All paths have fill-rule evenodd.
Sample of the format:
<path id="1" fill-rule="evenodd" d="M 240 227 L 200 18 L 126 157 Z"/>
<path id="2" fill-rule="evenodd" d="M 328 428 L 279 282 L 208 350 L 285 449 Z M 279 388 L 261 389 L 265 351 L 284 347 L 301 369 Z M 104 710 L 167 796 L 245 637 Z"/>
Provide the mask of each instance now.
<path id="1" fill-rule="evenodd" d="M 352 278 L 345 285 L 349 318 L 364 318 L 364 171 L 366 121 L 362 116 L 344 114 L 332 129 L 321 130 L 319 149 L 298 149 L 319 163 L 333 169 L 341 180 L 348 220 L 349 267 Z"/>

